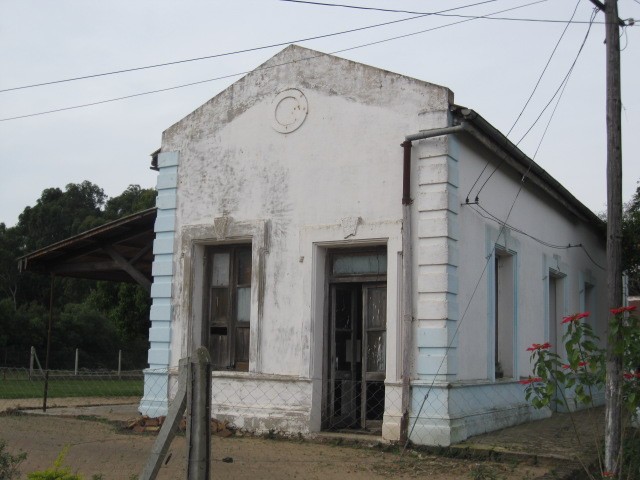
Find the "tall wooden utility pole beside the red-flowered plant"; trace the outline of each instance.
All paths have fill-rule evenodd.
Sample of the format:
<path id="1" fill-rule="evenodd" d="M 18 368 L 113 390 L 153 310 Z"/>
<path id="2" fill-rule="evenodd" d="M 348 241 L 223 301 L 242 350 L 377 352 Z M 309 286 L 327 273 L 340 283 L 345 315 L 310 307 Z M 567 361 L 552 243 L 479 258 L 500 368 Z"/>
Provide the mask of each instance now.
<path id="1" fill-rule="evenodd" d="M 607 45 L 607 284 L 609 308 L 622 305 L 622 131 L 617 0 L 605 1 Z M 605 470 L 617 477 L 622 447 L 622 356 L 607 345 Z"/>

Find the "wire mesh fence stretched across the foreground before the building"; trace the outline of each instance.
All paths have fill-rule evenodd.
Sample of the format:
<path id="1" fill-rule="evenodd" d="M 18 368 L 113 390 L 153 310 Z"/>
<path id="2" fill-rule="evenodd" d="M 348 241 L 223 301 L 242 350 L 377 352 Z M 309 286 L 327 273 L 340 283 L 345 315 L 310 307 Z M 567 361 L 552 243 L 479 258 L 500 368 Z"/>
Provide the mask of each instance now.
<path id="1" fill-rule="evenodd" d="M 101 466 L 104 465 L 103 456 L 111 456 L 111 459 L 116 461 L 116 457 L 123 458 L 135 451 L 137 453 L 131 456 L 131 465 L 128 467 L 126 476 L 117 476 L 110 472 L 107 476 L 97 477 L 135 478 L 134 475 L 141 471 L 145 459 L 153 448 L 155 437 L 148 434 L 160 430 L 164 417 L 174 401 L 178 391 L 177 379 L 177 368 L 146 369 L 120 372 L 120 374 L 117 371 L 106 370 L 91 372 L 80 370 L 77 374 L 73 370 L 50 371 L 48 404 L 51 409 L 73 407 L 76 410 L 69 412 L 71 416 L 95 415 L 119 422 L 115 433 L 113 429 L 101 426 L 101 431 L 95 432 L 93 440 L 81 441 L 74 437 L 75 435 L 84 438 L 84 435 L 88 434 L 84 430 L 74 431 L 75 433 L 67 432 L 68 443 L 74 445 L 72 452 L 75 452 L 73 455 L 70 454 L 69 463 L 80 465 L 77 463 L 81 462 L 80 458 L 85 456 L 93 458 L 82 460 L 85 464 L 77 468 L 84 472 L 85 477 L 89 474 L 105 475 L 107 473 L 104 470 L 105 467 Z M 35 432 L 45 431 L 40 426 L 30 426 L 33 422 L 44 420 L 32 420 L 31 416 L 28 418 L 7 416 L 7 412 L 15 412 L 17 409 L 26 408 L 34 412 L 40 410 L 43 394 L 44 378 L 38 370 L 1 368 L 0 413 L 5 412 L 5 414 L 0 415 L 0 422 L 15 421 L 14 428 L 32 428 Z M 461 441 L 469 441 L 470 437 L 476 435 L 551 415 L 549 409 L 535 410 L 530 407 L 524 399 L 523 387 L 517 381 L 442 385 L 416 383 L 412 385 L 411 396 L 408 433 L 412 446 L 449 446 Z M 99 413 L 97 410 L 90 410 L 92 405 L 101 405 L 102 410 Z M 122 409 L 118 406 L 122 406 Z M 86 410 L 83 410 L 85 407 Z M 87 413 L 83 413 L 85 411 Z M 250 378 L 234 375 L 233 372 L 214 372 L 211 417 L 211 431 L 214 436 L 212 462 L 217 465 L 214 470 L 227 471 L 231 467 L 226 463 L 233 462 L 234 458 L 238 461 L 238 458 L 245 458 L 245 455 L 249 454 L 250 458 L 261 458 L 261 449 L 265 448 L 261 442 L 273 438 L 298 439 L 300 436 L 318 438 L 318 432 L 328 432 L 330 435 L 338 435 L 337 438 L 342 438 L 340 435 L 343 434 L 359 434 L 361 441 L 368 442 L 370 445 L 398 443 L 402 422 L 402 389 L 401 385 L 385 384 L 380 381 L 365 382 L 348 379 L 315 381 L 268 375 Z M 50 417 L 49 421 L 56 423 L 62 420 Z M 583 424 L 586 423 L 583 422 Z M 570 438 L 572 433 L 569 425 L 566 421 L 556 421 L 556 426 L 545 427 L 543 434 L 532 433 L 528 448 L 539 449 L 546 444 L 549 449 L 554 450 L 554 455 L 557 454 L 563 447 L 558 447 L 554 439 L 564 439 L 567 443 L 567 436 Z M 582 428 L 582 424 L 580 426 Z M 94 427 L 90 430 L 98 428 Z M 55 427 L 49 433 L 54 435 L 53 430 L 60 428 L 64 430 L 71 427 Z M 182 422 L 180 428 L 184 431 L 185 422 Z M 10 431 L 12 429 L 6 426 L 0 428 L 2 432 L 0 441 L 5 433 Z M 126 453 L 120 450 L 117 450 L 119 453 L 115 450 L 109 453 L 110 448 L 116 449 L 117 443 L 115 441 L 111 443 L 111 437 L 127 432 L 142 434 L 142 437 L 137 436 L 135 442 L 129 442 L 130 451 Z M 29 437 L 28 434 L 26 435 Z M 521 441 L 522 439 L 516 437 L 523 436 L 522 433 L 494 435 L 497 435 L 492 440 L 494 443 L 500 438 Z M 542 436 L 545 439 L 544 442 L 540 442 Z M 235 439 L 232 443 L 219 444 L 221 439 L 230 437 Z M 38 464 L 38 461 L 52 463 L 55 459 L 54 454 L 60 453 L 60 445 L 67 443 L 50 440 L 48 443 L 45 442 L 48 447 L 38 447 L 40 453 L 37 453 L 34 452 L 34 445 L 42 439 L 38 437 L 36 441 L 34 436 L 29 438 L 30 440 L 22 447 L 20 447 L 22 440 L 13 439 L 8 442 L 17 443 L 18 448 L 27 452 L 31 449 L 31 461 L 35 462 L 30 464 L 31 468 L 35 468 L 36 465 L 38 468 L 46 466 Z M 236 443 L 240 439 L 243 442 L 242 447 L 239 446 L 240 443 Z M 84 447 L 80 446 L 92 441 L 100 442 L 102 445 L 100 453 L 94 451 L 93 457 L 91 457 L 92 452 L 83 452 Z M 173 440 L 166 463 L 161 469 L 164 473 L 159 478 L 184 476 L 186 471 L 184 443 L 184 436 L 179 435 Z M 536 443 L 540 445 L 535 445 Z M 47 457 L 42 453 L 47 448 L 56 451 L 52 451 Z M 118 446 L 118 448 L 121 447 Z M 250 464 L 249 457 L 247 458 L 248 463 L 242 466 L 243 472 L 255 467 Z M 413 454 L 410 454 L 404 461 L 410 462 L 412 458 L 414 458 Z M 261 461 L 270 462 L 266 458 Z M 281 461 L 289 462 L 286 459 Z M 344 462 L 346 463 L 343 467 L 349 460 L 345 458 Z M 336 460 L 334 465 L 338 472 L 340 472 L 337 466 L 339 463 Z M 239 468 L 240 466 L 236 465 L 236 469 Z M 305 466 L 301 464 L 298 473 L 303 473 L 304 468 Z M 390 471 L 389 475 L 393 476 L 393 473 Z M 275 477 L 278 477 L 277 473 L 272 476 L 272 478 Z M 215 475 L 214 478 L 216 478 Z M 261 476 L 260 471 L 257 471 L 256 478 L 266 477 Z"/>

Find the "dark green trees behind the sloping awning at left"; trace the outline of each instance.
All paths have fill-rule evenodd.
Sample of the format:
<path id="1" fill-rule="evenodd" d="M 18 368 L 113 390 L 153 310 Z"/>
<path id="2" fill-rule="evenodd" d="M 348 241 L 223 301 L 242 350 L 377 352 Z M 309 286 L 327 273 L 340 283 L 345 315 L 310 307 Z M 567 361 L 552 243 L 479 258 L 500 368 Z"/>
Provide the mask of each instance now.
<path id="1" fill-rule="evenodd" d="M 18 224 L 0 223 L 0 364 L 27 365 L 33 345 L 44 352 L 48 330 L 50 279 L 17 270 L 17 258 L 105 222 L 153 207 L 156 192 L 130 185 L 107 199 L 97 185 L 70 183 L 64 190 L 45 189 L 26 207 Z M 133 284 L 57 278 L 53 294 L 50 366 L 73 365 L 75 348 L 88 368 L 115 368 L 123 350 L 123 367 L 146 363 L 150 301 Z"/>

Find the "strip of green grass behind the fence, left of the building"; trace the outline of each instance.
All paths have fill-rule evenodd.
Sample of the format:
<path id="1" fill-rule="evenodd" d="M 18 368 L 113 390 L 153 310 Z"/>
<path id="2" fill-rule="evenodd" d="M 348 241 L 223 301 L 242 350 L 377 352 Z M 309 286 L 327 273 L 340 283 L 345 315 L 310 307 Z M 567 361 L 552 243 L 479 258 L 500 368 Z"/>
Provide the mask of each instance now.
<path id="1" fill-rule="evenodd" d="M 63 397 L 135 397 L 142 396 L 143 380 L 135 376 L 60 375 L 49 376 L 48 398 Z M 42 398 L 44 379 L 29 380 L 26 374 L 0 376 L 0 399 Z"/>

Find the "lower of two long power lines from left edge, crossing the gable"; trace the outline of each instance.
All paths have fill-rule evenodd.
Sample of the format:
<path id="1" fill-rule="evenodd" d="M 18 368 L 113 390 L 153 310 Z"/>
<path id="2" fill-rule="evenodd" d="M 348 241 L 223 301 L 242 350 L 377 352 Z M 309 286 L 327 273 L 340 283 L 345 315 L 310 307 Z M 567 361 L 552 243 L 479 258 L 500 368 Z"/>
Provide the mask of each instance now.
<path id="1" fill-rule="evenodd" d="M 534 2 L 526 3 L 524 5 L 519 5 L 519 6 L 516 6 L 516 7 L 508 8 L 506 10 L 500 10 L 500 11 L 495 12 L 495 13 L 489 13 L 487 15 L 497 15 L 499 13 L 504 13 L 504 12 L 508 12 L 508 11 L 512 11 L 512 10 L 517 10 L 517 9 L 524 8 L 524 7 L 529 7 L 531 5 L 536 5 L 538 3 L 544 3 L 546 1 L 547 0 L 536 0 Z M 358 48 L 369 47 L 369 46 L 372 46 L 372 45 L 377 45 L 379 43 L 390 42 L 392 40 L 398 40 L 400 38 L 406 38 L 406 37 L 410 37 L 410 36 L 413 36 L 413 35 L 419 35 L 419 34 L 422 34 L 422 33 L 427 33 L 427 32 L 431 32 L 431 31 L 434 31 L 434 30 L 439 30 L 439 29 L 442 29 L 442 28 L 451 27 L 451 26 L 454 26 L 454 25 L 459 25 L 461 23 L 470 22 L 472 20 L 475 20 L 475 19 L 459 20 L 457 22 L 448 23 L 446 25 L 439 25 L 437 27 L 428 28 L 426 30 L 420 30 L 418 32 L 407 33 L 407 34 L 404 34 L 404 35 L 397 35 L 397 36 L 394 36 L 394 37 L 389 37 L 389 38 L 386 38 L 386 39 L 383 39 L 383 40 L 377 40 L 377 41 L 374 41 L 374 42 L 363 43 L 363 44 L 356 45 L 356 46 L 353 46 L 353 47 L 348 47 L 348 48 L 343 48 L 343 49 L 340 49 L 340 50 L 335 50 L 335 51 L 331 52 L 329 55 L 333 55 L 333 54 L 336 54 L 336 53 L 343 53 L 343 52 L 347 52 L 347 51 L 350 51 L 350 50 L 356 50 Z M 51 114 L 51 113 L 63 112 L 63 111 L 67 111 L 67 110 L 77 110 L 77 109 L 80 109 L 80 108 L 92 107 L 92 106 L 96 106 L 96 105 L 102 105 L 102 104 L 106 104 L 106 103 L 117 102 L 117 101 L 120 101 L 120 100 L 127 100 L 129 98 L 142 97 L 142 96 L 151 95 L 151 94 L 155 94 L 155 93 L 167 92 L 167 91 L 170 91 L 170 90 L 178 90 L 180 88 L 186 88 L 186 87 L 191 87 L 191 86 L 194 86 L 194 85 L 200 85 L 200 84 L 203 84 L 203 83 L 213 82 L 213 81 L 217 81 L 217 80 L 224 80 L 224 79 L 227 79 L 227 78 L 237 77 L 237 76 L 240 76 L 240 75 L 246 75 L 248 73 L 251 73 L 252 71 L 268 70 L 268 69 L 271 69 L 271 68 L 276 68 L 276 67 L 280 67 L 280 66 L 284 66 L 284 65 L 289 65 L 289 64 L 292 64 L 292 63 L 296 63 L 296 62 L 302 62 L 302 61 L 306 61 L 306 60 L 313 60 L 314 58 L 322 57 L 324 55 L 325 55 L 324 53 L 321 53 L 321 54 L 318 54 L 318 55 L 313 55 L 313 56 L 301 58 L 301 59 L 298 59 L 298 60 L 292 60 L 292 61 L 289 61 L 289 62 L 279 63 L 277 65 L 270 65 L 270 66 L 267 66 L 267 67 L 260 67 L 260 68 L 254 69 L 254 70 L 245 70 L 245 71 L 242 71 L 242 72 L 231 73 L 231 74 L 228 74 L 228 75 L 222 75 L 222 76 L 219 76 L 219 77 L 209 78 L 209 79 L 206 79 L 206 80 L 199 80 L 199 81 L 196 81 L 196 82 L 190 82 L 190 83 L 185 83 L 185 84 L 181 84 L 181 85 L 175 85 L 173 87 L 160 88 L 160 89 L 157 89 L 157 90 L 150 90 L 150 91 L 146 91 L 146 92 L 134 93 L 134 94 L 125 95 L 125 96 L 122 96 L 122 97 L 115 97 L 115 98 L 110 98 L 110 99 L 106 99 L 106 100 L 99 100 L 99 101 L 90 102 L 90 103 L 83 103 L 83 104 L 80 104 L 80 105 L 74 105 L 74 106 L 70 106 L 70 107 L 62 107 L 62 108 L 56 108 L 56 109 L 53 109 L 53 110 L 46 110 L 46 111 L 42 111 L 42 112 L 29 113 L 29 114 L 25 114 L 25 115 L 17 115 L 17 116 L 14 116 L 14 117 L 0 118 L 0 122 L 8 122 L 8 121 L 11 121 L 11 120 L 19 120 L 19 119 L 23 119 L 23 118 L 37 117 L 37 116 L 47 115 L 47 114 Z"/>

